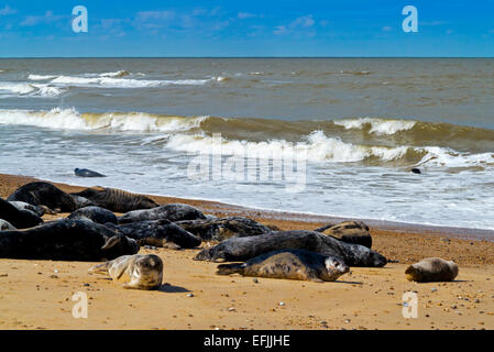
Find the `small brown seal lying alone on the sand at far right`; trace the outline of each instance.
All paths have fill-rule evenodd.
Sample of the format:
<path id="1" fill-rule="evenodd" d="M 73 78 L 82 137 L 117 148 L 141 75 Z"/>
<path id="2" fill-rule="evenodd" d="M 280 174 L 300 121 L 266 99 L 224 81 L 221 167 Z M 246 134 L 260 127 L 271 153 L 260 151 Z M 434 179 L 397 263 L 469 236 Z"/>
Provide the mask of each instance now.
<path id="1" fill-rule="evenodd" d="M 458 265 L 440 257 L 426 257 L 411 264 L 405 271 L 409 282 L 452 282 L 458 275 Z"/>

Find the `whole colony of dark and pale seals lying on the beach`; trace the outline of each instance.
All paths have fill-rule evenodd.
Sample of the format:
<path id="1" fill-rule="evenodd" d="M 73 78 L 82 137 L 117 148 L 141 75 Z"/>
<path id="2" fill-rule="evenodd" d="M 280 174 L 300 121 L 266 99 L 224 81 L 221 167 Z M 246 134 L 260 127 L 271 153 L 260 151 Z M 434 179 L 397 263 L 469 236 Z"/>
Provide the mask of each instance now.
<path id="1" fill-rule="evenodd" d="M 43 222 L 44 213 L 69 212 Z M 123 213 L 121 216 L 114 212 Z M 138 254 L 140 246 L 194 249 L 213 241 L 194 257 L 220 264 L 218 275 L 332 282 L 351 266 L 383 267 L 387 260 L 372 249 L 362 221 L 331 223 L 315 231 L 279 231 L 245 217 L 217 218 L 183 205 L 158 205 L 149 197 L 91 187 L 67 194 L 34 182 L 0 198 L 0 257 L 54 261 L 103 261 L 91 268 L 125 288 L 157 289 L 163 262 Z M 410 265 L 406 278 L 452 280 L 458 265 L 426 258 Z"/>

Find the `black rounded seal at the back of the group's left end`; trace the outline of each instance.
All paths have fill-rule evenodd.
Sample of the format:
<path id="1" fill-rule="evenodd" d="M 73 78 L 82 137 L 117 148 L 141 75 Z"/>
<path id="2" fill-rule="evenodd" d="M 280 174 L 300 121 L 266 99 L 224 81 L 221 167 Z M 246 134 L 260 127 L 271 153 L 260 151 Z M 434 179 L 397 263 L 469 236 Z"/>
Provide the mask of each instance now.
<path id="1" fill-rule="evenodd" d="M 77 209 L 76 201 L 56 186 L 36 182 L 19 187 L 7 198 L 9 201 L 24 201 L 33 206 L 46 206 L 50 209 L 59 209 L 63 212 L 73 212 Z"/>

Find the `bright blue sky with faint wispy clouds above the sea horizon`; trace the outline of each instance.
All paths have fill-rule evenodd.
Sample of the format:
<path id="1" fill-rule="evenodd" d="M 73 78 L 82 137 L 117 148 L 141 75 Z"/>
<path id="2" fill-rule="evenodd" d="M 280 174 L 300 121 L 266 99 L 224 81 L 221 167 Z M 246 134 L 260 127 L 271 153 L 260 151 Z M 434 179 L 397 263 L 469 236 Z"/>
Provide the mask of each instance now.
<path id="1" fill-rule="evenodd" d="M 418 33 L 402 30 L 408 4 Z M 40 56 L 493 57 L 494 0 L 0 0 L 0 57 Z"/>

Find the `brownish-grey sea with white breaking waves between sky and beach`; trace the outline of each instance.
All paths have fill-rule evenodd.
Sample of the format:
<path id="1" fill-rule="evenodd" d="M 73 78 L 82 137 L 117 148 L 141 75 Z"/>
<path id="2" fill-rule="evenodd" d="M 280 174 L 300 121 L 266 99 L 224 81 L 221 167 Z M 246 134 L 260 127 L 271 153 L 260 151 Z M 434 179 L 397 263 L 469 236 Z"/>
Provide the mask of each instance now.
<path id="1" fill-rule="evenodd" d="M 0 59 L 0 173 L 494 230 L 494 58 Z"/>

